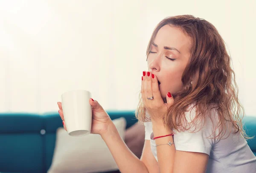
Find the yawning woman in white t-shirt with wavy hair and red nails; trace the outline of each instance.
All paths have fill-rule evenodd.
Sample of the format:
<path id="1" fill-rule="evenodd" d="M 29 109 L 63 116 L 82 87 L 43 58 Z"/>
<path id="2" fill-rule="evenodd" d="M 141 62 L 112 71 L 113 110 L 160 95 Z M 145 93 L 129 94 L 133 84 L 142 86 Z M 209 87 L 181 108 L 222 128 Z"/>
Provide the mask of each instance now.
<path id="1" fill-rule="evenodd" d="M 141 159 L 122 141 L 101 105 L 89 100 L 91 133 L 102 136 L 119 170 L 256 173 L 230 56 L 217 29 L 192 15 L 168 17 L 154 29 L 147 62 L 136 111 L 145 125 Z M 58 106 L 66 129 L 61 102 Z"/>

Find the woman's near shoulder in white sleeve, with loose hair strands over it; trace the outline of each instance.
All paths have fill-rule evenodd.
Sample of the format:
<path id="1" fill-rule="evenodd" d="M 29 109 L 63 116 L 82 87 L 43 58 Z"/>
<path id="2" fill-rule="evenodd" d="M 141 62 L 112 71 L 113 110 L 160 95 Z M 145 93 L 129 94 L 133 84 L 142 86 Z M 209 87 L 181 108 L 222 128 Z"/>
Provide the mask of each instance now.
<path id="1" fill-rule="evenodd" d="M 204 115 L 198 116 L 197 108 L 190 105 L 185 112 L 183 130 L 174 131 L 174 141 L 177 150 L 210 154 L 216 140 L 214 138 L 218 114 L 215 109 L 209 109 Z"/>

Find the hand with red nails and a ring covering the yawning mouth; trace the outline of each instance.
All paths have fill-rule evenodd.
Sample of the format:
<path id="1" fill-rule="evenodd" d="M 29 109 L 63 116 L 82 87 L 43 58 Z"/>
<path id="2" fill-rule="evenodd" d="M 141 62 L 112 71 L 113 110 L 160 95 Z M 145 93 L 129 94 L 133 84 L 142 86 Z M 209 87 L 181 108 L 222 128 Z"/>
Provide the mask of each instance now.
<path id="1" fill-rule="evenodd" d="M 159 90 L 157 77 L 149 71 L 143 71 L 141 94 L 151 121 L 162 122 L 164 114 L 174 102 L 172 94 L 166 93 L 167 103 L 165 103 Z M 153 99 L 148 99 L 152 96 Z"/>

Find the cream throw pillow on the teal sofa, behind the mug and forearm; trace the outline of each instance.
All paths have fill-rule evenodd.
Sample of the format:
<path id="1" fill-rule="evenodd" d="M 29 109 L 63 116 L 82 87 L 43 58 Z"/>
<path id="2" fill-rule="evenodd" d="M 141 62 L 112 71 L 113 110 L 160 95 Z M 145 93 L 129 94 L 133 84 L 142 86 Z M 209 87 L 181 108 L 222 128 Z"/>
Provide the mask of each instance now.
<path id="1" fill-rule="evenodd" d="M 113 120 L 124 140 L 126 120 Z M 107 145 L 98 134 L 69 136 L 64 128 L 58 128 L 52 165 L 47 173 L 93 173 L 118 170 Z"/>

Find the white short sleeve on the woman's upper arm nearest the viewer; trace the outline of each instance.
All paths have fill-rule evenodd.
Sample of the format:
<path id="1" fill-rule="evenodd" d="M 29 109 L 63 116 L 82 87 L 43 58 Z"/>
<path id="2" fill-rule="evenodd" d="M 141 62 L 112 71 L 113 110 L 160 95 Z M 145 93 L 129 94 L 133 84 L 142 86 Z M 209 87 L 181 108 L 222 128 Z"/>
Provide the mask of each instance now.
<path id="1" fill-rule="evenodd" d="M 191 111 L 191 114 L 189 114 L 189 112 L 186 113 L 188 122 L 191 122 L 194 116 L 195 111 L 193 110 Z M 211 136 L 212 127 L 211 120 L 207 119 L 204 126 L 201 126 L 199 129 L 191 128 L 182 132 L 177 132 L 175 130 L 173 138 L 176 150 L 206 153 L 210 155 L 212 146 L 214 145 L 214 139 L 212 139 Z M 195 131 L 193 132 L 193 130 Z"/>

